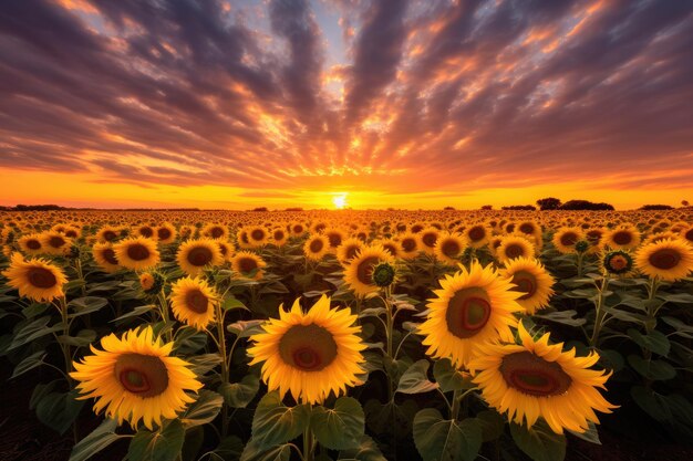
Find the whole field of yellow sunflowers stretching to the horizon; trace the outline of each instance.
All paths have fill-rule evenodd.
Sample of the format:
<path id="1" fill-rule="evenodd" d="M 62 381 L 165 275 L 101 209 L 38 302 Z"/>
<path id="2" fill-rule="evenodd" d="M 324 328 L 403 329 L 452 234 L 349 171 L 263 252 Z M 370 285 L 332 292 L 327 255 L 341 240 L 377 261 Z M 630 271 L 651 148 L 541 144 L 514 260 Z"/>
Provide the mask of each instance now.
<path id="1" fill-rule="evenodd" d="M 0 244 L 3 460 L 693 453 L 691 209 L 3 212 Z"/>

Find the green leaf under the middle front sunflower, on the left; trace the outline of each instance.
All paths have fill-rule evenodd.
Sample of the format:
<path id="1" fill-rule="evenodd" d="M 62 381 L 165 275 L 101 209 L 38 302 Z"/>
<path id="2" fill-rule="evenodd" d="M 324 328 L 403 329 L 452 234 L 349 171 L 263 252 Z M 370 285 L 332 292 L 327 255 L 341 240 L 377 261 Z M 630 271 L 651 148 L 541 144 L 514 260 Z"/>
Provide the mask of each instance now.
<path id="1" fill-rule="evenodd" d="M 279 392 L 267 394 L 260 399 L 252 418 L 252 438 L 258 447 L 266 449 L 286 443 L 299 437 L 310 422 L 310 406 L 287 407 Z"/>

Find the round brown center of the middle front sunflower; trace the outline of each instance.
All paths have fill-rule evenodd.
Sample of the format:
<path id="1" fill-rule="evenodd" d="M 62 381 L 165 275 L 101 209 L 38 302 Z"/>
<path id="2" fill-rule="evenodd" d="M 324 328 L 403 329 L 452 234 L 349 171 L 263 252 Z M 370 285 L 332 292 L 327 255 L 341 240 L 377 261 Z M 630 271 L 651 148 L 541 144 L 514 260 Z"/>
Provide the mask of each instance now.
<path id="1" fill-rule="evenodd" d="M 279 340 L 279 355 L 303 371 L 320 371 L 337 358 L 337 343 L 322 326 L 294 325 Z"/>

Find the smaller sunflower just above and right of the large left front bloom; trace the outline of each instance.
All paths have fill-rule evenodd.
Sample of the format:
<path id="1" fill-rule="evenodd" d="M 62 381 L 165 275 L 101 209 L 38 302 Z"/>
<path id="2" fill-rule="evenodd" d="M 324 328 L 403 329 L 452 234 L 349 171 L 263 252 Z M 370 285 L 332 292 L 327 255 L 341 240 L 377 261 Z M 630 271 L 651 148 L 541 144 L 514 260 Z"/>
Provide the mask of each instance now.
<path id="1" fill-rule="evenodd" d="M 170 310 L 179 322 L 204 331 L 215 321 L 219 300 L 214 289 L 201 279 L 178 279 L 170 286 Z"/>

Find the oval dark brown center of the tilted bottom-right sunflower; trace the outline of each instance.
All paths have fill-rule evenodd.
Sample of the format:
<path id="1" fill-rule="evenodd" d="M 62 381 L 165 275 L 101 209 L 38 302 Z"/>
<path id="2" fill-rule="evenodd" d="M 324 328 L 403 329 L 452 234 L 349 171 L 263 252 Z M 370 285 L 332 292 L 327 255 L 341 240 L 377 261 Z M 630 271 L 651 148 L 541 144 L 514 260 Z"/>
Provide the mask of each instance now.
<path id="1" fill-rule="evenodd" d="M 559 396 L 572 384 L 559 364 L 530 352 L 505 356 L 499 369 L 508 386 L 536 397 Z"/>

